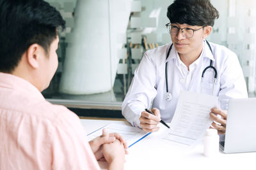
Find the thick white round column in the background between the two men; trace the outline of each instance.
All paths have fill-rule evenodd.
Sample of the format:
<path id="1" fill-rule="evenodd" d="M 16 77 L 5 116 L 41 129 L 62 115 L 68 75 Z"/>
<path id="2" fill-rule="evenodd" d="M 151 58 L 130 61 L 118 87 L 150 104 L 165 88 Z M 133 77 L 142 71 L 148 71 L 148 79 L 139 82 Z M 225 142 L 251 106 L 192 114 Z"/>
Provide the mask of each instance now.
<path id="1" fill-rule="evenodd" d="M 130 11 L 131 1 L 77 1 L 75 27 L 69 36 L 60 92 L 95 94 L 111 90 L 118 65 L 118 48 L 122 46 L 118 44 L 118 34 L 125 33 Z"/>

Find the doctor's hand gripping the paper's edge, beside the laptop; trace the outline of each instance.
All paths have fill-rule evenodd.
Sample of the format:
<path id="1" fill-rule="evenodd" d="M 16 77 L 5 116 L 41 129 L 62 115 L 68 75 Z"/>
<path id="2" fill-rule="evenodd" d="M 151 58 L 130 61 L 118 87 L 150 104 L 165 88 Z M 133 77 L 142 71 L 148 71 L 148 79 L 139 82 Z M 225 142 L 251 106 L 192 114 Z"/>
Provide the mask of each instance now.
<path id="1" fill-rule="evenodd" d="M 219 123 L 216 124 L 215 122 L 212 122 L 212 127 L 218 131 L 218 134 L 225 134 L 227 125 L 227 111 L 221 110 L 220 108 L 212 108 L 210 117 L 213 121 Z"/>

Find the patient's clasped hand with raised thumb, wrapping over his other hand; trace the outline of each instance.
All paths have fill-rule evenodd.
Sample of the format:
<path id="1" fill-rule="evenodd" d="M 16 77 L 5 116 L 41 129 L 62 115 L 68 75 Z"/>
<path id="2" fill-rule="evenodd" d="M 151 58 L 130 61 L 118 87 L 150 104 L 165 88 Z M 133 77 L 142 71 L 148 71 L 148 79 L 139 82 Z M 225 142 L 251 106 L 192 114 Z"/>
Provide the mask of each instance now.
<path id="1" fill-rule="evenodd" d="M 105 143 L 112 143 L 115 140 L 119 140 L 120 143 L 123 143 L 125 148 L 125 153 L 127 154 L 127 143 L 125 142 L 124 138 L 118 133 L 111 133 L 109 134 L 107 129 L 102 129 L 102 135 L 98 136 L 97 138 L 92 139 L 89 141 L 89 145 L 92 148 L 92 152 L 94 153 L 97 160 L 104 160 L 102 146 Z"/>

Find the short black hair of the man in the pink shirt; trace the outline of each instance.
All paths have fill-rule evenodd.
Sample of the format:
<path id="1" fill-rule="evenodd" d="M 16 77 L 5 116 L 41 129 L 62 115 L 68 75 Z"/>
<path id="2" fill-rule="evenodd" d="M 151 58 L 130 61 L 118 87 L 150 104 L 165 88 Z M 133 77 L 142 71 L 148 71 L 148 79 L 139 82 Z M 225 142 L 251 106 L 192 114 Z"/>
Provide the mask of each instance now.
<path id="1" fill-rule="evenodd" d="M 0 72 L 12 73 L 35 43 L 48 54 L 59 29 L 65 20 L 43 0 L 0 0 Z"/>

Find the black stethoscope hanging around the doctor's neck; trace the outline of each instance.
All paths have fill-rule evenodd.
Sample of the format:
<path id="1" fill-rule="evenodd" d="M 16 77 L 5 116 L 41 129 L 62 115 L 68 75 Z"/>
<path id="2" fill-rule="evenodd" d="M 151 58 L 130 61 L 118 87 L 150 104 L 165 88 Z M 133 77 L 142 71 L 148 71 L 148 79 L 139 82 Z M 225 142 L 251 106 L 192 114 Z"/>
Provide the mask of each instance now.
<path id="1" fill-rule="evenodd" d="M 208 43 L 207 40 L 205 40 L 207 45 L 209 46 L 210 50 L 211 50 L 211 53 L 213 55 L 213 52 L 212 52 L 212 48 L 211 48 L 211 45 Z M 173 44 L 170 46 L 169 50 L 168 50 L 168 53 L 166 55 L 166 59 L 168 58 L 169 54 L 170 54 L 170 51 L 172 50 L 172 46 Z M 214 56 L 214 55 L 213 55 Z M 209 68 L 212 68 L 214 70 L 214 83 L 213 83 L 213 87 L 212 87 L 212 94 L 214 92 L 214 86 L 215 86 L 215 83 L 216 83 L 216 80 L 217 80 L 217 76 L 218 76 L 218 73 L 217 73 L 217 70 L 214 66 L 212 66 L 212 60 L 210 62 L 210 65 L 208 67 L 205 67 L 203 73 L 202 73 L 202 77 L 201 77 L 201 83 L 200 83 L 200 93 L 202 93 L 202 83 L 203 83 L 203 80 L 204 80 L 204 73 L 205 71 L 207 71 L 207 69 Z M 172 94 L 169 92 L 168 90 L 168 72 L 167 72 L 167 66 L 168 66 L 168 62 L 165 63 L 165 82 L 166 82 L 166 101 L 172 101 Z"/>

